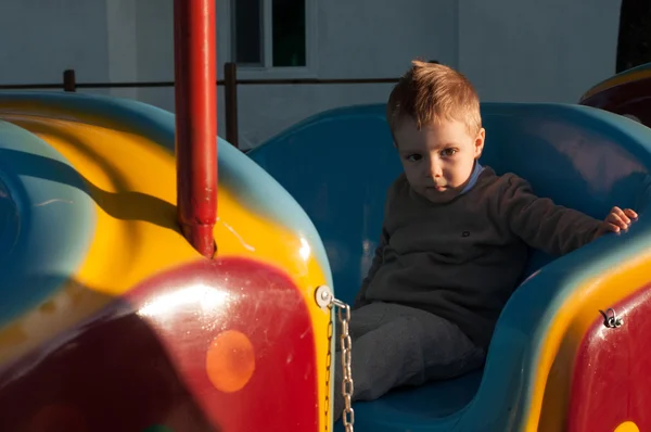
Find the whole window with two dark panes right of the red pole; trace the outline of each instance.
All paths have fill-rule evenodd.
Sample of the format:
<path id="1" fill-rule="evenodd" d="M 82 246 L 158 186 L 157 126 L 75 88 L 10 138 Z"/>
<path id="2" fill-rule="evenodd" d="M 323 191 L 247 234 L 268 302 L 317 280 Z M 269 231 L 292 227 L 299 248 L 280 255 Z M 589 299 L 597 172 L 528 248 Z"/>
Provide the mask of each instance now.
<path id="1" fill-rule="evenodd" d="M 241 67 L 308 66 L 310 0 L 231 0 L 231 59 Z"/>

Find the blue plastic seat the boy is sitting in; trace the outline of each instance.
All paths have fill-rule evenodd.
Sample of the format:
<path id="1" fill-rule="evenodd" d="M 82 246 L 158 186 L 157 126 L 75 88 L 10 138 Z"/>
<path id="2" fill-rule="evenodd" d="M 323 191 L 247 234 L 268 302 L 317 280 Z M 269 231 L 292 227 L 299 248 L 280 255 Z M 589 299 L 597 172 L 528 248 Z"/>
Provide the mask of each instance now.
<path id="1" fill-rule="evenodd" d="M 329 111 L 248 153 L 310 216 L 328 253 L 336 295 L 348 303 L 371 264 L 386 188 L 400 173 L 384 110 L 376 104 Z M 482 111 L 487 130 L 482 163 L 498 174 L 515 173 L 538 195 L 598 218 L 613 205 L 643 212 L 649 203 L 648 128 L 578 105 L 492 103 Z M 638 224 L 640 232 L 644 224 Z M 596 263 L 615 241 L 600 239 L 553 262 L 534 251 L 523 278 L 546 265 L 549 270 L 526 280 L 507 305 L 484 374 L 359 402 L 356 431 L 519 430 L 525 405 L 520 402 L 531 393 L 532 340 L 545 314 L 558 307 L 571 284 L 567 275 L 593 271 L 585 263 Z"/>

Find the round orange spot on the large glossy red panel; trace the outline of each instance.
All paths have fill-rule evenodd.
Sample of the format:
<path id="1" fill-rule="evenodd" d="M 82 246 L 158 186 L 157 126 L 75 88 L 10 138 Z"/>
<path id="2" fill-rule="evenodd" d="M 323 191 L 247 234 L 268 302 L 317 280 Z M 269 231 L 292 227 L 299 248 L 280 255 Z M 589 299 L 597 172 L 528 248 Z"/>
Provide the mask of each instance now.
<path id="1" fill-rule="evenodd" d="M 255 370 L 255 352 L 246 335 L 227 330 L 217 335 L 206 354 L 206 371 L 213 385 L 222 392 L 242 390 Z"/>

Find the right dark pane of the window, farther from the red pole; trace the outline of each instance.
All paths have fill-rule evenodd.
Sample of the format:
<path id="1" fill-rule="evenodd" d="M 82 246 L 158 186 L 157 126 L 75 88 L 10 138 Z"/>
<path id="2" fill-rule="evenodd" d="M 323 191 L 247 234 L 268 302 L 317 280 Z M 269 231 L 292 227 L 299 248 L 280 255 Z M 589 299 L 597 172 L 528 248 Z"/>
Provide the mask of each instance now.
<path id="1" fill-rule="evenodd" d="M 305 0 L 272 0 L 273 66 L 305 66 Z"/>

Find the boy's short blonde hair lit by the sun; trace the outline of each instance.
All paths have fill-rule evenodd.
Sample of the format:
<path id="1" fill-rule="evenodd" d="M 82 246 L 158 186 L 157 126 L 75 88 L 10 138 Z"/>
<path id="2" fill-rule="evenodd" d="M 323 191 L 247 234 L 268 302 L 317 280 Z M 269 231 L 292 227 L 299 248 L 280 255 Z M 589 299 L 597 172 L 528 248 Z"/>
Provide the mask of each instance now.
<path id="1" fill-rule="evenodd" d="M 437 63 L 411 62 L 391 92 L 386 119 L 392 134 L 406 116 L 419 130 L 451 119 L 463 123 L 472 136 L 482 128 L 480 98 L 472 84 L 459 72 Z"/>

